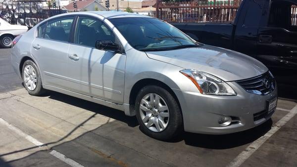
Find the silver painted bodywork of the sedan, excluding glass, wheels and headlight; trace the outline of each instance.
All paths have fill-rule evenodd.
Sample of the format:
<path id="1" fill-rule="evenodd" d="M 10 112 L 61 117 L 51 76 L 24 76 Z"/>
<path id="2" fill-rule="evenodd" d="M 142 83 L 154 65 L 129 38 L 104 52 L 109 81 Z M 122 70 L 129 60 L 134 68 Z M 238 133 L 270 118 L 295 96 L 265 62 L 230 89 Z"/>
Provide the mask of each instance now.
<path id="1" fill-rule="evenodd" d="M 266 116 L 253 121 L 253 113 L 265 110 L 266 101 L 277 97 L 277 89 L 267 95 L 255 95 L 234 82 L 267 72 L 267 67 L 254 58 L 207 45 L 163 52 L 135 50 L 108 20 L 148 17 L 133 13 L 72 12 L 49 19 L 76 14 L 103 20 L 113 30 L 126 54 L 36 38 L 36 28 L 42 22 L 25 33 L 12 48 L 12 66 L 20 77 L 22 58 L 30 57 L 37 64 L 45 89 L 122 110 L 131 116 L 135 115 L 129 101 L 133 86 L 143 79 L 157 80 L 166 84 L 177 97 L 184 129 L 189 132 L 233 133 L 257 126 L 270 118 Z M 197 69 L 215 75 L 226 81 L 237 95 L 200 94 L 193 82 L 179 72 L 183 69 Z M 240 122 L 222 127 L 218 124 L 222 115 L 237 116 Z"/>

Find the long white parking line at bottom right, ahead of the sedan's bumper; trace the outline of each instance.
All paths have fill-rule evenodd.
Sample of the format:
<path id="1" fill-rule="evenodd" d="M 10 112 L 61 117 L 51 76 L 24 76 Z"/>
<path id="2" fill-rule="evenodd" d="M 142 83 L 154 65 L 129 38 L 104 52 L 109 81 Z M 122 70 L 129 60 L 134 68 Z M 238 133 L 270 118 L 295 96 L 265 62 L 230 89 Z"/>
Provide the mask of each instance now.
<path id="1" fill-rule="evenodd" d="M 252 142 L 246 150 L 241 152 L 227 167 L 240 167 L 269 137 L 277 132 L 282 126 L 284 126 L 291 118 L 297 114 L 297 106 L 295 106 L 289 113 L 287 113 L 282 119 L 274 124 L 271 129 L 265 133 L 262 137 Z"/>

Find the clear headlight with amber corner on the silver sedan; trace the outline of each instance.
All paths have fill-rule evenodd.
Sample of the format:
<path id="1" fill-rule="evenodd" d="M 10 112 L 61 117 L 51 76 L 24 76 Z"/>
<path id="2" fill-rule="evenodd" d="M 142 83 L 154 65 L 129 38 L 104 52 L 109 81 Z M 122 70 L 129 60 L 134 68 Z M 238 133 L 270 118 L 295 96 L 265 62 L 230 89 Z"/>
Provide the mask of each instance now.
<path id="1" fill-rule="evenodd" d="M 196 85 L 201 94 L 237 95 L 231 86 L 213 75 L 194 69 L 184 69 L 180 72 Z"/>

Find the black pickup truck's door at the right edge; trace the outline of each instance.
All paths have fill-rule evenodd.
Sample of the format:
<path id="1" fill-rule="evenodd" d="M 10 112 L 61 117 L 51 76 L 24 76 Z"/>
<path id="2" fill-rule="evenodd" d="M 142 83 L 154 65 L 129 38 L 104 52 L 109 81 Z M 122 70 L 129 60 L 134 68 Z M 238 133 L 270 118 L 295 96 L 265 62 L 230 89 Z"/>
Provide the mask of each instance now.
<path id="1" fill-rule="evenodd" d="M 297 26 L 294 3 L 273 0 L 266 26 L 258 30 L 257 53 L 279 83 L 297 85 Z"/>

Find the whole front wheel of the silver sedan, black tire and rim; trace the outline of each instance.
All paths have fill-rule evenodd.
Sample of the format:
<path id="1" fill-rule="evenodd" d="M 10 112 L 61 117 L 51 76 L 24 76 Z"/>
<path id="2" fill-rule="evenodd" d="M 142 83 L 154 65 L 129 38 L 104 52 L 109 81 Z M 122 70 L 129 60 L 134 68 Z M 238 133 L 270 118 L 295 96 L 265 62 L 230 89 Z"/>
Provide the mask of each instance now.
<path id="1" fill-rule="evenodd" d="M 155 99 L 153 102 L 159 99 L 159 103 L 153 103 L 151 99 Z M 152 138 L 169 140 L 183 131 L 183 117 L 178 102 L 164 88 L 154 85 L 142 88 L 136 97 L 135 111 L 141 131 Z"/>

